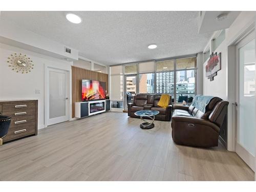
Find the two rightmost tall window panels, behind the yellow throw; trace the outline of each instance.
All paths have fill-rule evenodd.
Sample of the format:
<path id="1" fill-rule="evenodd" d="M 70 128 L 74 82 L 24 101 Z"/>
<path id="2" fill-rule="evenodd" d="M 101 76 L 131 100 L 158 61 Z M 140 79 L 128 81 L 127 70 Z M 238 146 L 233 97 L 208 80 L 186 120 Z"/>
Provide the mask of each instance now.
<path id="1" fill-rule="evenodd" d="M 158 61 L 156 93 L 168 93 L 174 102 L 191 102 L 196 95 L 197 57 Z"/>

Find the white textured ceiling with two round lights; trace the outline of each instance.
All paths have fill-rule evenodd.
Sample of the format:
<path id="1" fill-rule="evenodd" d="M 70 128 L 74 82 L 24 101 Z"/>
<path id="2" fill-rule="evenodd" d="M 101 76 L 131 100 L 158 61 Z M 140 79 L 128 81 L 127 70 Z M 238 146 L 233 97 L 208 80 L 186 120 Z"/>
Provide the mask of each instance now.
<path id="1" fill-rule="evenodd" d="M 73 12 L 81 24 L 68 22 L 66 13 L 1 11 L 1 17 L 106 65 L 199 53 L 212 34 L 198 34 L 198 11 Z"/>

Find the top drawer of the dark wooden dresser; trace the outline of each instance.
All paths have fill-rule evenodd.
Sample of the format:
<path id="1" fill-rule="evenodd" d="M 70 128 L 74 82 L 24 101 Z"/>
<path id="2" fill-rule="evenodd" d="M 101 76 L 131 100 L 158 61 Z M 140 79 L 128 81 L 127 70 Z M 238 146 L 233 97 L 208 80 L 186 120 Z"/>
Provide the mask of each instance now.
<path id="1" fill-rule="evenodd" d="M 24 101 L 24 102 L 13 102 L 13 103 L 4 103 L 3 104 L 3 113 L 4 112 L 19 112 L 25 110 L 35 109 L 35 102 Z"/>

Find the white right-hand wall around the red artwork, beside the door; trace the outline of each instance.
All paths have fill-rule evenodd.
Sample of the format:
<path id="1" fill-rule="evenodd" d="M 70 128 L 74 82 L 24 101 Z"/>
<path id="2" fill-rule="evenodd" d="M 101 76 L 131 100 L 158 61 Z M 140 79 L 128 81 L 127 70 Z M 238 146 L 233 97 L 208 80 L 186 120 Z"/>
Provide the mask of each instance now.
<path id="1" fill-rule="evenodd" d="M 203 65 L 203 94 L 218 96 L 229 101 L 228 106 L 228 150 L 234 151 L 235 126 L 232 119 L 232 104 L 235 102 L 235 49 L 234 44 L 241 37 L 242 33 L 253 24 L 256 12 L 241 12 L 234 20 L 229 29 L 226 29 L 226 37 L 222 44 L 212 52 L 221 52 L 221 70 L 217 72 L 214 81 L 205 77 L 205 65 Z M 211 39 L 209 40 L 209 46 Z M 230 46 L 232 45 L 232 46 Z M 210 46 L 211 47 L 211 46 Z M 205 48 L 206 49 L 206 48 Z M 232 79 L 232 80 L 231 80 Z"/>

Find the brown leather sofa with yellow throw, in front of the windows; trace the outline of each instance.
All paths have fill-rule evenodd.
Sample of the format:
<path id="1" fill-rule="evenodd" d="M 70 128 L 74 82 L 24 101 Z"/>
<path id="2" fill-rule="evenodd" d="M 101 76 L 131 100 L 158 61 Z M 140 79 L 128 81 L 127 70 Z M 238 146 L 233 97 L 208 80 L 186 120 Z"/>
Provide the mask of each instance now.
<path id="1" fill-rule="evenodd" d="M 155 116 L 155 120 L 170 121 L 172 117 L 172 97 L 170 97 L 167 108 L 160 108 L 157 104 L 161 95 L 138 94 L 134 97 L 132 103 L 128 103 L 128 116 L 140 118 L 135 115 L 140 110 L 157 110 L 159 114 Z"/>

